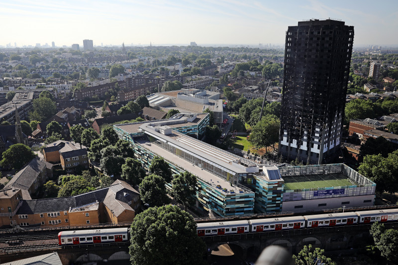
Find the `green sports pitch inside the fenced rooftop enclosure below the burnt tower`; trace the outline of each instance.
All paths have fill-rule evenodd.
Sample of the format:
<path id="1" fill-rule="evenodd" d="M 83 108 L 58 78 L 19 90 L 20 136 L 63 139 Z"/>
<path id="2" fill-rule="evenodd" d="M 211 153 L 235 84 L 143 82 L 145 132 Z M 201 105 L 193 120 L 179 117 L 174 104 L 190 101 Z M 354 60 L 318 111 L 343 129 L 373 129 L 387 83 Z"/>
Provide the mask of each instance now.
<path id="1" fill-rule="evenodd" d="M 322 175 L 310 175 L 310 176 L 289 176 L 284 177 L 285 189 L 303 189 L 303 188 L 319 188 L 319 187 L 338 187 L 353 185 L 346 177 L 336 176 L 329 174 L 327 176 Z"/>

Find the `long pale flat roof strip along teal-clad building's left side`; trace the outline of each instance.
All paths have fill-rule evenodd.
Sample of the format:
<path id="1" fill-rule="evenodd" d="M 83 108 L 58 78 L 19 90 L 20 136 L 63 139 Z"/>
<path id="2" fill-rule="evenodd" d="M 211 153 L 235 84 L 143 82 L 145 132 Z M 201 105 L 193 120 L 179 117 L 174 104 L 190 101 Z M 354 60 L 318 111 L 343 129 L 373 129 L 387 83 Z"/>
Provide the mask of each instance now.
<path id="1" fill-rule="evenodd" d="M 161 148 L 158 145 L 150 144 L 150 142 L 146 139 L 136 140 L 135 142 L 141 144 L 142 147 L 144 147 L 145 149 L 148 149 L 149 151 L 163 157 L 165 160 L 172 162 L 173 164 L 177 165 L 179 168 L 187 170 L 192 174 L 204 179 L 206 182 L 211 183 L 211 186 L 213 187 L 221 185 L 221 188 L 226 188 L 228 191 L 233 190 L 235 193 L 239 193 L 239 190 L 241 189 L 233 184 L 231 185 L 229 181 L 221 177 L 217 177 L 208 171 L 205 171 L 197 166 L 194 166 L 192 163 L 170 153 L 169 151 Z M 223 191 L 220 189 L 220 192 Z"/>

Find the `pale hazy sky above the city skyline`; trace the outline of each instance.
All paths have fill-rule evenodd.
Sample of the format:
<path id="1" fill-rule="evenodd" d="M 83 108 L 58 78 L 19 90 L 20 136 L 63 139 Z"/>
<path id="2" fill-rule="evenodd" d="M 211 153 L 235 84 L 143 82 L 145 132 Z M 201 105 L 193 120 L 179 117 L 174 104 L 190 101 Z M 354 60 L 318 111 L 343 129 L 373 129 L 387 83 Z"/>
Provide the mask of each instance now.
<path id="1" fill-rule="evenodd" d="M 328 17 L 354 26 L 354 47 L 398 45 L 397 0 L 0 0 L 0 45 L 284 44 Z"/>

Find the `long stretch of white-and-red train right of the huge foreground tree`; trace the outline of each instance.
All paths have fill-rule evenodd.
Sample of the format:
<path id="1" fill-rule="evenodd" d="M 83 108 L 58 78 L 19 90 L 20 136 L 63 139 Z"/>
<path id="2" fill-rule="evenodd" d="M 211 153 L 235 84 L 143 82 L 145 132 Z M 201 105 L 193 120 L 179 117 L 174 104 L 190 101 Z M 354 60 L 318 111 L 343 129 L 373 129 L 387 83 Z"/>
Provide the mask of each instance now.
<path id="1" fill-rule="evenodd" d="M 398 220 L 398 209 L 357 211 L 331 214 L 290 216 L 280 218 L 251 219 L 226 222 L 199 223 L 199 237 L 242 234 L 253 232 L 280 231 L 289 229 L 316 228 L 389 222 Z"/>

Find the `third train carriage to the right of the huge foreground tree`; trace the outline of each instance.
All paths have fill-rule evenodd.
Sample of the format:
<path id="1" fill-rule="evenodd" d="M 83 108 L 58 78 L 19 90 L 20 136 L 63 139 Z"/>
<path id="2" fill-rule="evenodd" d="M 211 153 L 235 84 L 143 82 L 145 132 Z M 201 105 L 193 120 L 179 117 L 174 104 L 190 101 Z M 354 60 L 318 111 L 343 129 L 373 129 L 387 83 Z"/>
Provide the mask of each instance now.
<path id="1" fill-rule="evenodd" d="M 354 212 L 305 215 L 307 228 L 351 225 L 358 223 L 358 216 Z"/>

